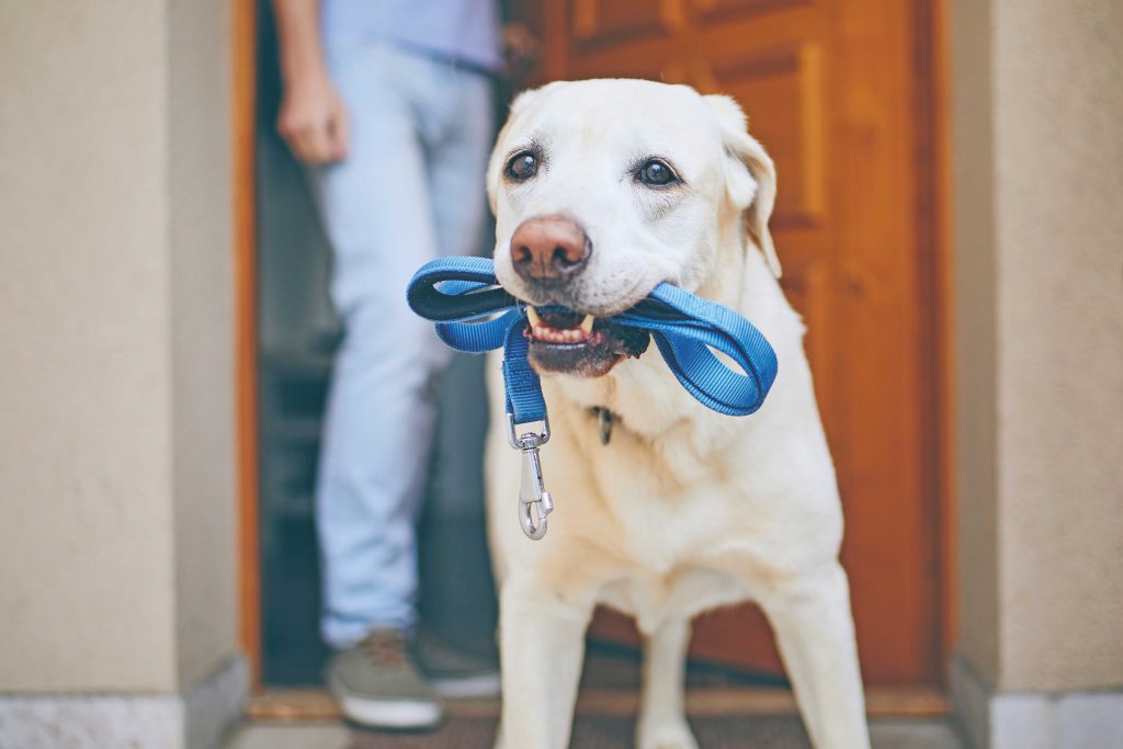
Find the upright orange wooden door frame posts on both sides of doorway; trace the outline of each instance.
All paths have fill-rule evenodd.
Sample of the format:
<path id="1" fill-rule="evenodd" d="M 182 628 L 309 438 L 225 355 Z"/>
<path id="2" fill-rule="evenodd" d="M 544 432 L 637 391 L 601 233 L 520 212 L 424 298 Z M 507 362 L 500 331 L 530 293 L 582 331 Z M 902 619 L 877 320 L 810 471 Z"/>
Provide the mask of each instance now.
<path id="1" fill-rule="evenodd" d="M 551 7 L 558 3 L 547 0 Z M 952 495 L 955 465 L 952 380 L 952 255 L 950 246 L 948 0 L 912 0 L 915 12 L 913 72 L 917 122 L 916 149 L 917 247 L 923 278 L 920 289 L 922 336 L 925 346 L 925 384 L 932 398 L 923 404 L 934 429 L 925 449 L 929 506 L 935 510 L 939 652 L 950 655 L 958 621 L 956 606 L 956 509 Z M 531 3 L 535 4 L 535 3 Z M 532 10 L 537 10 L 533 8 Z M 551 9 L 547 9 L 550 12 Z M 556 10 L 553 10 L 556 12 Z M 239 639 L 249 661 L 250 683 L 261 691 L 262 577 L 258 476 L 258 366 L 257 366 L 257 0 L 231 3 L 231 185 L 232 255 L 235 281 L 235 433 L 237 448 L 237 515 Z M 531 22 L 535 13 L 530 13 Z M 551 68 L 549 60 L 545 70 Z M 554 66 L 556 67 L 556 66 Z M 940 669 L 942 672 L 942 669 Z M 937 685 L 944 686 L 944 685 Z"/>

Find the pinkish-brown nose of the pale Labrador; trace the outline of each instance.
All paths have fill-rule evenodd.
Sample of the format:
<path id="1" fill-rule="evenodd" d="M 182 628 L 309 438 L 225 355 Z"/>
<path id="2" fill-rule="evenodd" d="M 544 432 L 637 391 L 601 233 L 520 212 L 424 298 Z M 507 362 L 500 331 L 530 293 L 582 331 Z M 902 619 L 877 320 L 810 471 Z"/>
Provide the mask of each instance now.
<path id="1" fill-rule="evenodd" d="M 563 216 L 527 219 L 511 237 L 511 261 L 527 280 L 565 280 L 577 274 L 593 252 L 588 236 Z"/>

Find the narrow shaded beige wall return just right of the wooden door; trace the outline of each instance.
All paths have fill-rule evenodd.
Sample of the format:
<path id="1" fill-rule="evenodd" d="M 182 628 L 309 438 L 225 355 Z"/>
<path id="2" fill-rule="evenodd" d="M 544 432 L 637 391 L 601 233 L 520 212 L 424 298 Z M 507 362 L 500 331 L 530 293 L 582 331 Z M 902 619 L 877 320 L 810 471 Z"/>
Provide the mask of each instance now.
<path id="1" fill-rule="evenodd" d="M 960 648 L 998 670 L 994 124 L 990 7 L 955 2 L 951 130 L 956 289 L 956 465 L 959 471 Z"/>

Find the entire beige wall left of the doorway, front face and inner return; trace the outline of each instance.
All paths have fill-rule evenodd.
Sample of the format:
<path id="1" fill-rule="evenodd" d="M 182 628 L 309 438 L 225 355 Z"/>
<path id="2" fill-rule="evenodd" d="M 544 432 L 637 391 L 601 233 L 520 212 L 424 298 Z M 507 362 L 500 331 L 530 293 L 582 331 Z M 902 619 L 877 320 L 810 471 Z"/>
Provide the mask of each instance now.
<path id="1" fill-rule="evenodd" d="M 235 650 L 226 16 L 0 2 L 0 692 Z"/>

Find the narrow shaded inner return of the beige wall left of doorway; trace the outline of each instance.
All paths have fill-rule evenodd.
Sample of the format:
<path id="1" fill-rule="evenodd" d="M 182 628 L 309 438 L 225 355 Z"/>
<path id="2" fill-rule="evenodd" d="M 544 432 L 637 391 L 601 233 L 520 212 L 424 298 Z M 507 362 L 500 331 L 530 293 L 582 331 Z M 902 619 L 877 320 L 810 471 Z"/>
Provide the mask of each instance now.
<path id="1" fill-rule="evenodd" d="M 223 0 L 175 0 L 167 16 L 181 683 L 236 637 L 229 18 Z"/>

